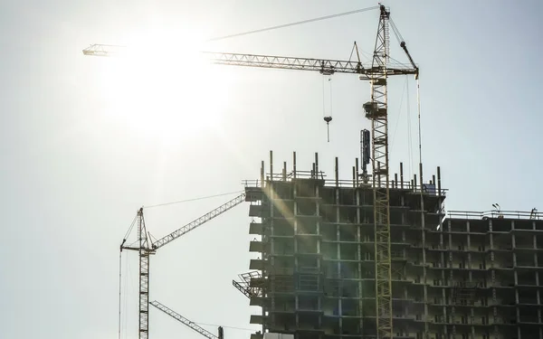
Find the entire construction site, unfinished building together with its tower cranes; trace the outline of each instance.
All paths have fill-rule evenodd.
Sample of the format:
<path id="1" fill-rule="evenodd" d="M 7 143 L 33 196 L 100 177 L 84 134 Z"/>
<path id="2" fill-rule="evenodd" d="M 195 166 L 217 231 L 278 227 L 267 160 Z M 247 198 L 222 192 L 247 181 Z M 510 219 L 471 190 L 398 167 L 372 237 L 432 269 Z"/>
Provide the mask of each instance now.
<path id="1" fill-rule="evenodd" d="M 318 153 L 312 164 L 299 165 L 295 152 L 277 161 L 270 151 L 256 179 L 243 182 L 243 193 L 161 239 L 148 236 L 140 209 L 137 245 L 125 239 L 120 246 L 139 256 L 140 339 L 149 336 L 149 305 L 208 339 L 223 339 L 222 328 L 212 334 L 152 301 L 149 259 L 237 205 L 248 207 L 254 240 L 247 247 L 258 258 L 233 280 L 262 310 L 247 319 L 262 326 L 251 339 L 543 339 L 543 215 L 501 211 L 498 204 L 489 212 L 445 211 L 454 190 L 443 187 L 440 167 L 424 169 L 420 155 L 417 174 L 405 174 L 401 163 L 392 170 L 387 81 L 418 79 L 419 68 L 403 40 L 407 62 L 389 61 L 389 31 L 401 34 L 385 5 L 378 12 L 371 65 L 359 58 L 205 53 L 223 65 L 354 74 L 370 85 L 361 111 L 371 128 L 360 131 L 360 156 L 344 160 L 352 167 L 349 178 L 339 177 L 341 159 L 327 174 Z M 83 53 L 110 56 L 113 48 L 91 45 Z"/>

